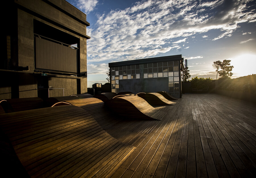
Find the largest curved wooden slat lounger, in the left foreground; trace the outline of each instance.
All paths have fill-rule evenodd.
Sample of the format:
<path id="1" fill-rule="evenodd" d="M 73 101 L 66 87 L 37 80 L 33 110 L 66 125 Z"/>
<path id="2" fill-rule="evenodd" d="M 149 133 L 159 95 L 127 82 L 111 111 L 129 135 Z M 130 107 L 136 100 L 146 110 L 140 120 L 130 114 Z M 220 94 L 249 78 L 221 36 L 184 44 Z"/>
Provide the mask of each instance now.
<path id="1" fill-rule="evenodd" d="M 134 150 L 73 105 L 3 114 L 0 127 L 15 150 L 5 159 L 16 156 L 30 177 L 104 177 Z"/>

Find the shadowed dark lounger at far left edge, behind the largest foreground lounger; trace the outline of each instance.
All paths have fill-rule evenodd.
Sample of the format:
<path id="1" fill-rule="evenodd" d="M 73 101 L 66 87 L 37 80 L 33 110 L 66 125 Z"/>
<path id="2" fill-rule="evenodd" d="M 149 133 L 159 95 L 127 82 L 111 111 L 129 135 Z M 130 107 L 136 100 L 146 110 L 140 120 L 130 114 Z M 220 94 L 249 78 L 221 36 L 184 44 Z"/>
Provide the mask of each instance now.
<path id="1" fill-rule="evenodd" d="M 42 108 L 44 106 L 44 100 L 39 97 L 6 99 L 1 100 L 0 105 L 6 113 L 18 112 Z"/>

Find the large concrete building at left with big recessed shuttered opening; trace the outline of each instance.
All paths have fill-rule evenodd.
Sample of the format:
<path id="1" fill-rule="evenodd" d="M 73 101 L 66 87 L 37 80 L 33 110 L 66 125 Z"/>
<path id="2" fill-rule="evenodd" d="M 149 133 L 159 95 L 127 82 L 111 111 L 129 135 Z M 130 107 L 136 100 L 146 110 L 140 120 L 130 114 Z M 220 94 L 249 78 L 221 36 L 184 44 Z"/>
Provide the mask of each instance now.
<path id="1" fill-rule="evenodd" d="M 65 0 L 3 3 L 0 99 L 87 92 L 86 14 Z"/>

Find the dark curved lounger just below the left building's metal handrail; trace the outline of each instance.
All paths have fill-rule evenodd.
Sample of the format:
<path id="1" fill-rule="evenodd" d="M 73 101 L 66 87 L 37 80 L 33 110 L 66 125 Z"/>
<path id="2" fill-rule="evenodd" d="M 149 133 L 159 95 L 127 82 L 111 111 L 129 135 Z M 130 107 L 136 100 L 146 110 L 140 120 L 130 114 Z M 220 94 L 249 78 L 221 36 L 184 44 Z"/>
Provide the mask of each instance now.
<path id="1" fill-rule="evenodd" d="M 93 96 L 90 94 L 83 94 L 83 97 L 92 98 Z M 74 99 L 80 99 L 79 96 L 71 95 L 71 96 L 65 96 L 65 97 L 50 97 L 45 100 L 45 105 L 47 107 L 51 107 L 53 104 L 60 102 L 60 101 L 68 101 L 68 100 L 74 100 Z"/>

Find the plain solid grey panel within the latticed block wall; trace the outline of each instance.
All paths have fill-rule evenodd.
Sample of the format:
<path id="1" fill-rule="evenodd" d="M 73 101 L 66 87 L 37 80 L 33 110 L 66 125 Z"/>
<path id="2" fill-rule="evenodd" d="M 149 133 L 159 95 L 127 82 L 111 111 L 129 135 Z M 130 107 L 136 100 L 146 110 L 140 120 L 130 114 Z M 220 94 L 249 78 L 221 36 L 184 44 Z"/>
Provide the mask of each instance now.
<path id="1" fill-rule="evenodd" d="M 168 91 L 168 78 L 145 78 L 145 79 L 123 79 L 119 80 L 119 92 L 130 91 L 139 92 L 157 92 Z"/>

